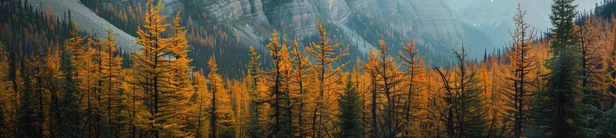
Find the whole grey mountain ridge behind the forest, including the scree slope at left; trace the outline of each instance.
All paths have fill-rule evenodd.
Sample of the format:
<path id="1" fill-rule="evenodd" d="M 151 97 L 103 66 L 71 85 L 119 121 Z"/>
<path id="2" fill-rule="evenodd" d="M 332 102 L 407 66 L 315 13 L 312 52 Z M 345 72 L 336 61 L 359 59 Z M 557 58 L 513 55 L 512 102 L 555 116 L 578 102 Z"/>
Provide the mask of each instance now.
<path id="1" fill-rule="evenodd" d="M 54 14 L 63 14 L 67 10 L 76 10 L 94 16 L 92 8 L 84 10 L 77 0 L 55 2 L 56 0 L 36 0 L 44 7 L 51 7 Z M 83 2 L 84 0 L 82 0 Z M 85 0 L 96 1 L 96 0 Z M 146 0 L 110 0 L 100 1 L 105 6 L 117 10 L 143 8 Z M 193 66 L 202 68 L 204 57 L 219 55 L 223 75 L 239 77 L 244 71 L 249 46 L 254 46 L 267 55 L 265 44 L 271 33 L 277 30 L 289 34 L 289 39 L 298 38 L 300 45 L 308 46 L 311 41 L 318 41 L 315 29 L 316 19 L 327 22 L 327 30 L 332 33 L 330 39 L 347 46 L 350 55 L 344 61 L 365 60 L 370 49 L 377 48 L 379 39 L 384 36 L 391 47 L 391 53 L 401 52 L 402 46 L 415 37 L 420 55 L 435 65 L 448 65 L 452 58 L 452 49 L 464 45 L 472 49 L 470 55 L 477 59 L 484 54 L 487 46 L 483 32 L 461 23 L 445 0 L 161 0 L 165 6 L 163 14 L 173 15 L 182 12 L 183 21 L 190 19 L 191 26 L 203 27 L 206 32 L 193 32 L 195 35 L 218 35 L 211 43 L 191 43 Z M 67 9 L 69 7 L 76 7 Z M 57 13 L 56 13 L 57 12 Z M 90 14 L 93 13 L 93 14 Z M 133 30 L 112 26 L 99 17 L 75 18 L 76 22 L 87 24 L 83 29 L 90 34 L 101 34 L 102 28 L 115 30 L 121 40 L 134 37 L 123 31 Z M 107 19 L 108 21 L 110 19 Z M 117 21 L 109 21 L 117 22 Z M 191 31 L 191 30 L 189 30 Z M 220 35 L 225 35 L 220 37 Z M 473 34 L 469 37 L 467 34 Z M 230 39 L 235 38 L 235 39 Z M 191 39 L 189 39 L 191 40 Z M 122 42 L 120 46 L 135 46 Z M 266 57 L 267 58 L 267 57 Z M 223 62 L 234 59 L 237 62 Z M 265 59 L 266 60 L 266 59 Z M 267 65 L 266 65 L 267 66 Z"/>

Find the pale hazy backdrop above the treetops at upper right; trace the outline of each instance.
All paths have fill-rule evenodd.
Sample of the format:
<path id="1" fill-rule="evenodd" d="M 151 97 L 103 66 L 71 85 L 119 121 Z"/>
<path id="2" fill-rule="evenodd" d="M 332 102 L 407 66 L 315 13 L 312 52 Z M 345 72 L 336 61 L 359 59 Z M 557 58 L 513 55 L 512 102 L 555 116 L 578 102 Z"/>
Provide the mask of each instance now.
<path id="1" fill-rule="evenodd" d="M 493 43 L 508 44 L 508 30 L 513 28 L 513 16 L 518 3 L 527 12 L 526 19 L 532 28 L 545 31 L 551 28 L 549 14 L 551 0 L 444 0 L 450 10 L 463 23 L 483 31 Z M 588 12 L 603 0 L 579 0 L 578 11 Z"/>

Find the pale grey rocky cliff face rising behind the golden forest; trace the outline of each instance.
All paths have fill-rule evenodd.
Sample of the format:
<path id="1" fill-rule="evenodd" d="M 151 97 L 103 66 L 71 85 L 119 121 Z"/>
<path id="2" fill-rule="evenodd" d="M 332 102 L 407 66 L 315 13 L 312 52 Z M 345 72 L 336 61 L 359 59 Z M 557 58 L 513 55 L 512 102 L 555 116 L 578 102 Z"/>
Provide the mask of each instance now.
<path id="1" fill-rule="evenodd" d="M 234 28 L 246 45 L 258 46 L 273 30 L 300 39 L 309 39 L 317 32 L 316 19 L 325 19 L 341 43 L 359 43 L 366 53 L 378 38 L 365 33 L 401 34 L 400 39 L 418 37 L 420 43 L 436 38 L 447 45 L 470 41 L 462 24 L 445 6 L 443 0 L 196 0 L 197 6 L 186 8 L 185 1 L 166 0 L 167 10 L 198 10 L 207 14 L 204 20 L 216 20 Z M 178 4 L 179 3 L 179 4 Z M 184 3 L 184 6 L 180 6 Z M 257 28 L 264 26 L 264 28 Z M 377 26 L 379 29 L 368 28 Z M 370 30 L 371 32 L 368 32 Z M 340 39 L 340 38 L 339 38 Z M 307 41 L 307 40 L 305 40 Z M 400 41 L 402 40 L 394 40 Z M 451 46 L 442 46 L 451 48 Z M 447 51 L 448 53 L 449 51 Z"/>

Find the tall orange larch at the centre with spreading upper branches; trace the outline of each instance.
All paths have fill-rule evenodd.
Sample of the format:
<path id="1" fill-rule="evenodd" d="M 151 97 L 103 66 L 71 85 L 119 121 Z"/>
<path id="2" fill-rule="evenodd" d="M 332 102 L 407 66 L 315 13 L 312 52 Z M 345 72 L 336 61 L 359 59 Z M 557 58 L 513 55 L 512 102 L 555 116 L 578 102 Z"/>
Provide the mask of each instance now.
<path id="1" fill-rule="evenodd" d="M 330 45 L 330 40 L 327 38 L 330 32 L 327 32 L 325 28 L 325 23 L 321 23 L 319 20 L 316 21 L 316 29 L 319 32 L 318 36 L 320 42 L 313 42 L 310 44 L 309 48 L 306 49 L 316 63 L 314 71 L 317 77 L 316 92 L 318 93 L 311 117 L 311 137 L 323 137 L 323 132 L 329 129 L 326 128 L 329 125 L 325 122 L 329 119 L 324 118 L 330 117 L 328 112 L 332 110 L 327 98 L 330 97 L 330 93 L 332 93 L 333 90 L 337 89 L 336 84 L 342 81 L 342 77 L 339 74 L 341 74 L 341 70 L 345 67 L 346 63 L 341 63 L 341 65 L 336 68 L 334 68 L 332 64 L 348 55 L 345 52 L 334 52 L 334 50 L 338 49 L 341 45 L 340 43 Z"/>

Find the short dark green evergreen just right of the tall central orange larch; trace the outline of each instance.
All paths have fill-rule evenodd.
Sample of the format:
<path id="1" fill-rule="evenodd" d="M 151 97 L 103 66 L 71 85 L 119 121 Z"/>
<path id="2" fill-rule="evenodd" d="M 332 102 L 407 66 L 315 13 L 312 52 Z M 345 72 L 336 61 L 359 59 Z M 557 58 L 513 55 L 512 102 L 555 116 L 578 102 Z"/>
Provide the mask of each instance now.
<path id="1" fill-rule="evenodd" d="M 340 105 L 340 119 L 339 128 L 340 132 L 336 137 L 351 138 L 351 137 L 363 137 L 363 124 L 359 120 L 361 112 L 361 101 L 359 99 L 359 92 L 354 86 L 354 83 L 349 77 L 344 88 L 344 92 L 340 95 L 338 100 Z"/>

